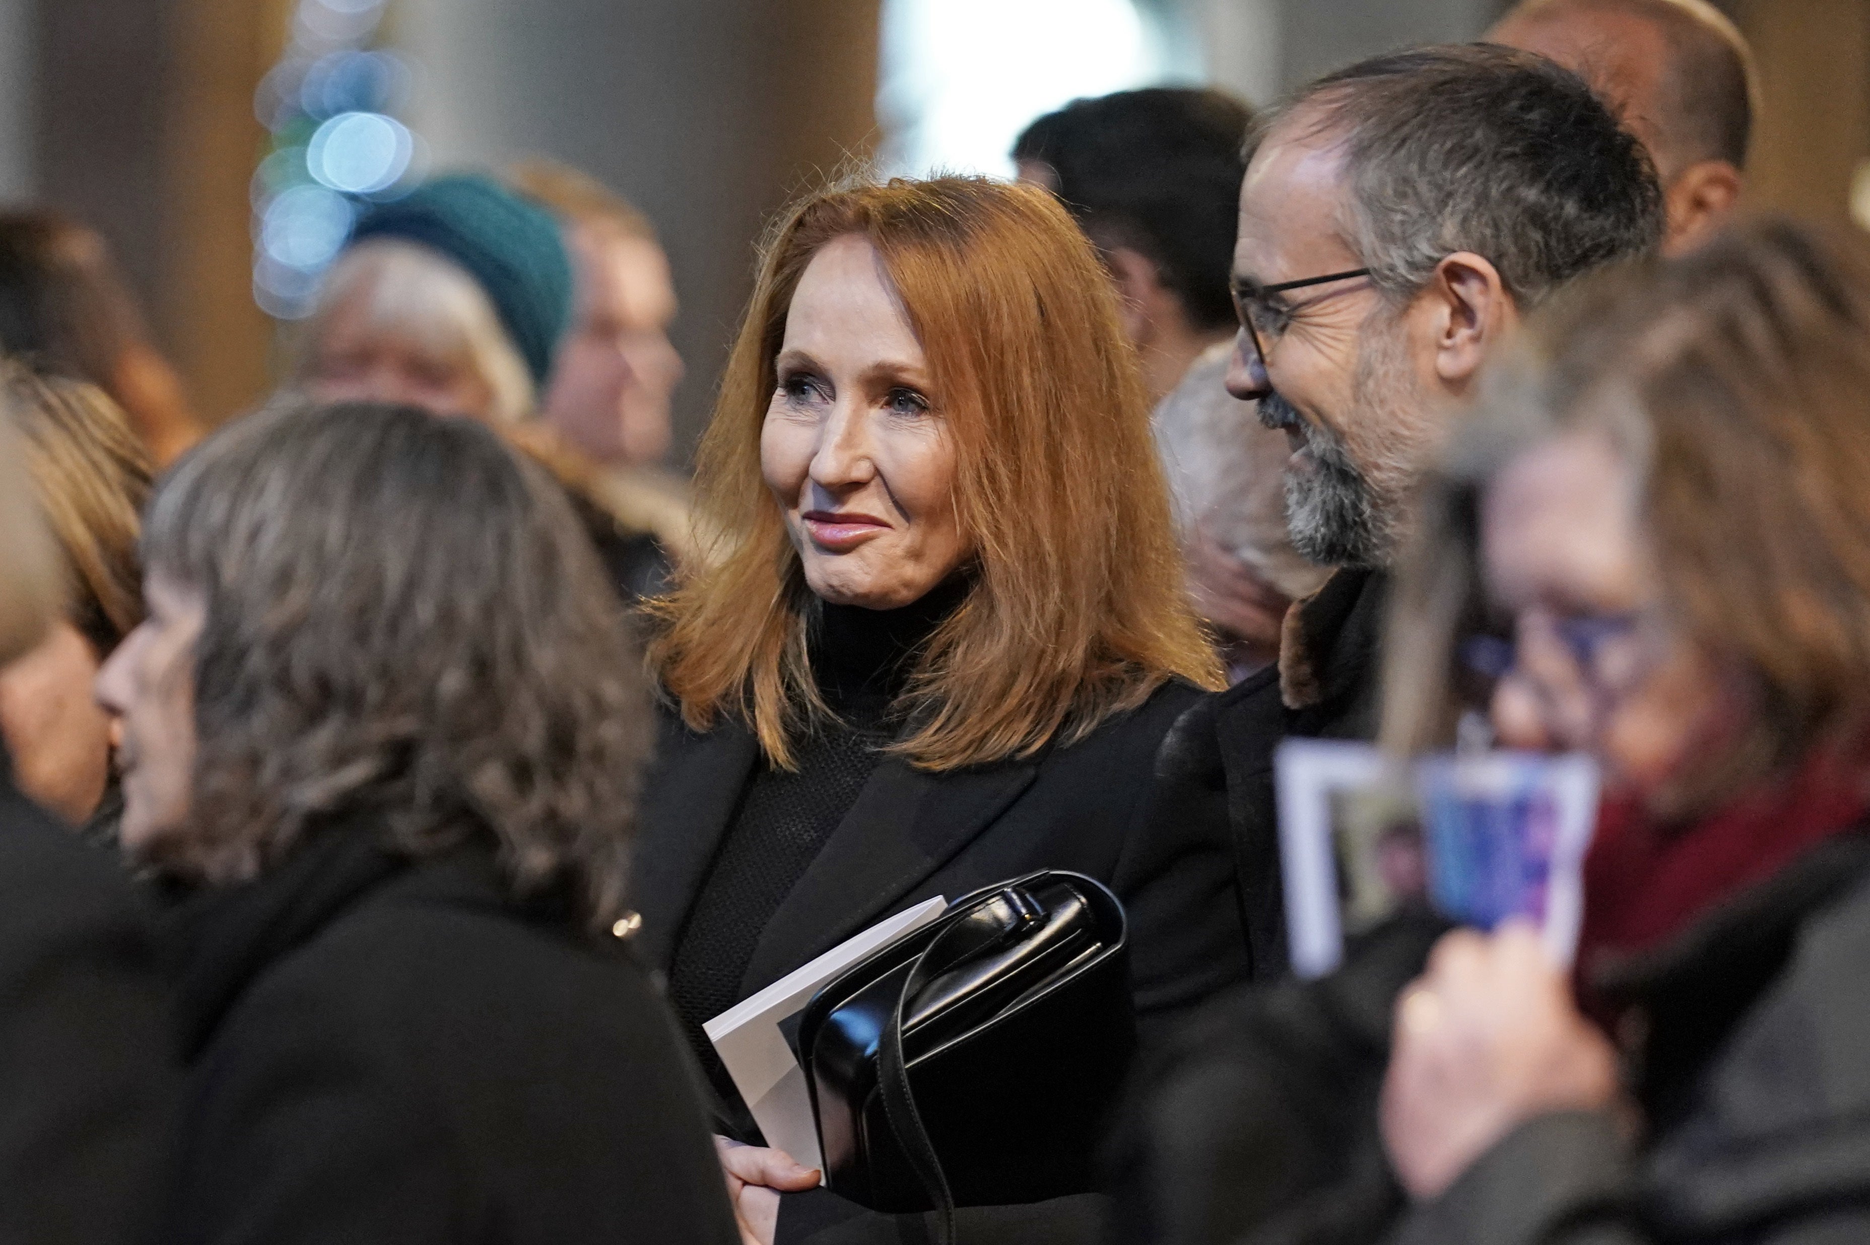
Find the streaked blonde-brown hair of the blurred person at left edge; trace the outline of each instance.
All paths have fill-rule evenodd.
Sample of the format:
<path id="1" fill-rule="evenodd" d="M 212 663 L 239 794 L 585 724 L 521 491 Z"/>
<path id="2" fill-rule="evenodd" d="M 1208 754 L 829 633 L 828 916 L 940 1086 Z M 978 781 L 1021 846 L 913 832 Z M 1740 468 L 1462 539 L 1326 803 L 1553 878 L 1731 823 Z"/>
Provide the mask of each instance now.
<path id="1" fill-rule="evenodd" d="M 69 619 L 103 658 L 142 622 L 137 538 L 150 452 L 95 385 L 4 365 L 0 393 L 64 555 Z"/>

